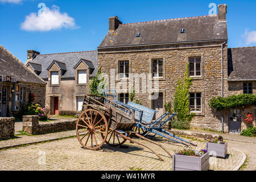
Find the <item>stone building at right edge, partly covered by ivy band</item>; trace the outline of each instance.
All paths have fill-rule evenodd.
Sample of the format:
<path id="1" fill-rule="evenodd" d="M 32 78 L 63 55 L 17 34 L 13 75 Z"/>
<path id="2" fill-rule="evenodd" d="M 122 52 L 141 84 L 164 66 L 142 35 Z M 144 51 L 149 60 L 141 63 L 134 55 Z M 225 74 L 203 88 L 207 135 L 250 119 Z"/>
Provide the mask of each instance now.
<path id="1" fill-rule="evenodd" d="M 256 94 L 256 47 L 228 49 L 228 96 Z M 230 133 L 240 133 L 248 126 L 247 114 L 256 116 L 256 106 L 232 108 L 228 112 Z M 255 126 L 255 122 L 253 123 Z"/>

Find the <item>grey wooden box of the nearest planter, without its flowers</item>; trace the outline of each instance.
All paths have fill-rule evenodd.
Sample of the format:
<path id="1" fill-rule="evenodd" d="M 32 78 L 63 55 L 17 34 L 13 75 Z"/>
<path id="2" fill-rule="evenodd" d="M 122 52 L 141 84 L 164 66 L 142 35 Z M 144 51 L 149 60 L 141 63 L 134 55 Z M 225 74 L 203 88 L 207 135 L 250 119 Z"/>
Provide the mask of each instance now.
<path id="1" fill-rule="evenodd" d="M 208 171 L 209 158 L 209 152 L 200 158 L 175 154 L 172 156 L 172 171 Z"/>

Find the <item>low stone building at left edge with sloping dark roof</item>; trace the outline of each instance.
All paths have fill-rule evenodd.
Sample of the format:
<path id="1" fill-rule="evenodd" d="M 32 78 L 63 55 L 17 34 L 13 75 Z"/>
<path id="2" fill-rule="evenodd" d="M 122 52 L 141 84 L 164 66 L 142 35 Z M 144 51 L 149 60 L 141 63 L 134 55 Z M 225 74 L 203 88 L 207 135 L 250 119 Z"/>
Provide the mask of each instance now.
<path id="1" fill-rule="evenodd" d="M 13 117 L 29 94 L 44 106 L 46 83 L 6 48 L 0 46 L 0 117 Z"/>

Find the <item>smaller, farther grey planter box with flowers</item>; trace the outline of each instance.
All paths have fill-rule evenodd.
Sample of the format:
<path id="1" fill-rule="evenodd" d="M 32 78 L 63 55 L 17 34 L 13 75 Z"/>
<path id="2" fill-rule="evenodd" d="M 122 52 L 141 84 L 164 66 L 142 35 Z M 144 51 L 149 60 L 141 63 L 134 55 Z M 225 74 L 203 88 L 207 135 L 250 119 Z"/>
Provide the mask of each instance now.
<path id="1" fill-rule="evenodd" d="M 228 142 L 223 140 L 223 137 L 218 139 L 212 139 L 207 142 L 207 151 L 209 151 L 210 156 L 216 156 L 217 158 L 225 158 L 228 154 Z"/>

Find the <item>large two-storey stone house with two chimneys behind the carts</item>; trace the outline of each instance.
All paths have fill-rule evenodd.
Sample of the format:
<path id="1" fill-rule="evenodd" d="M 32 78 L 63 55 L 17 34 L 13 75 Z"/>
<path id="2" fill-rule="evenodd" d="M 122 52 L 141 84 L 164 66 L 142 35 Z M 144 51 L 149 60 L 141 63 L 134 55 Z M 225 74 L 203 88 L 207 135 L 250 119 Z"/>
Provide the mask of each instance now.
<path id="1" fill-rule="evenodd" d="M 156 117 L 164 112 L 164 103 L 174 101 L 177 81 L 189 64 L 190 109 L 195 113 L 191 126 L 220 131 L 222 113 L 212 110 L 209 100 L 229 94 L 226 12 L 226 5 L 218 5 L 217 15 L 127 24 L 110 17 L 109 32 L 98 47 L 98 64 L 107 75 L 119 74 L 116 84 L 135 73 L 152 74 L 153 85 L 159 80 L 158 98 L 152 99 L 155 92 L 150 90 L 135 94 L 142 105 L 159 111 Z M 129 100 L 128 93 L 119 92 L 119 100 Z M 223 117 L 223 125 L 228 132 L 228 117 Z"/>

